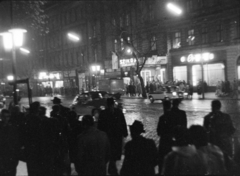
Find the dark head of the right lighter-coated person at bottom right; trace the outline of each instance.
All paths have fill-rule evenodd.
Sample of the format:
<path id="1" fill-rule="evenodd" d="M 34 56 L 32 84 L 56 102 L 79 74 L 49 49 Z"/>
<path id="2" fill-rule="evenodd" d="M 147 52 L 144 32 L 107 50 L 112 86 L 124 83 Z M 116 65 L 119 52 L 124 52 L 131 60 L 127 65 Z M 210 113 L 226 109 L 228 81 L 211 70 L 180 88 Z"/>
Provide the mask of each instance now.
<path id="1" fill-rule="evenodd" d="M 208 143 L 207 132 L 200 125 L 192 125 L 189 129 L 190 142 L 197 148 L 206 146 Z"/>

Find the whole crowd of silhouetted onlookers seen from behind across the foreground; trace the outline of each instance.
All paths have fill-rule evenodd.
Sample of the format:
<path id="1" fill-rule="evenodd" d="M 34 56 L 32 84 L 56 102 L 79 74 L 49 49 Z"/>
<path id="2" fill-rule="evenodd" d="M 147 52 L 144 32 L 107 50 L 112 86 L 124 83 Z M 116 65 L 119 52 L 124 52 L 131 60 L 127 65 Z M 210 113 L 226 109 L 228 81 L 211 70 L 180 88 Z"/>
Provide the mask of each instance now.
<path id="1" fill-rule="evenodd" d="M 18 106 L 1 111 L 0 175 L 16 175 L 19 160 L 27 163 L 29 176 L 63 176 L 71 174 L 74 163 L 78 175 L 219 175 L 233 172 L 231 136 L 235 132 L 231 118 L 221 112 L 221 102 L 212 101 L 212 112 L 204 125 L 187 128 L 180 100 L 164 101 L 160 116 L 157 149 L 146 139 L 144 125 L 134 121 L 128 136 L 124 114 L 107 99 L 105 110 L 78 118 L 75 111 L 53 99 L 50 117 L 39 102 L 27 112 Z M 124 147 L 123 147 L 124 146 Z M 116 161 L 124 160 L 120 172 Z"/>

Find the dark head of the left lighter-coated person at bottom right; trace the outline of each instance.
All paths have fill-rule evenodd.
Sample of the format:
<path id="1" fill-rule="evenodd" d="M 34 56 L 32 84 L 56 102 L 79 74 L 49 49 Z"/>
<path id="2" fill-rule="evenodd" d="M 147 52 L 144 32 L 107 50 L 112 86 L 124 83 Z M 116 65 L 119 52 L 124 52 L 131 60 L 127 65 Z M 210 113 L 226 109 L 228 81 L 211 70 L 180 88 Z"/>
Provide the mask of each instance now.
<path id="1" fill-rule="evenodd" d="M 175 146 L 187 146 L 189 144 L 188 129 L 182 126 L 177 126 L 173 130 Z"/>

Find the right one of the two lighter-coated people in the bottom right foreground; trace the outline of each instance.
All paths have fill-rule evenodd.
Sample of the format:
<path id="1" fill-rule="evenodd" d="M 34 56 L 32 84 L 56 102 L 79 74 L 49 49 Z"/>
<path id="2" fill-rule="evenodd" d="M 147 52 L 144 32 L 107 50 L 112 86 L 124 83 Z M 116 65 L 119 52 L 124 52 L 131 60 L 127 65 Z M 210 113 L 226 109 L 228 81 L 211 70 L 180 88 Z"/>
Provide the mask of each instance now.
<path id="1" fill-rule="evenodd" d="M 204 155 L 204 161 L 209 175 L 227 174 L 224 155 L 221 149 L 208 143 L 207 132 L 200 125 L 193 125 L 189 129 L 190 143 L 195 145 Z"/>

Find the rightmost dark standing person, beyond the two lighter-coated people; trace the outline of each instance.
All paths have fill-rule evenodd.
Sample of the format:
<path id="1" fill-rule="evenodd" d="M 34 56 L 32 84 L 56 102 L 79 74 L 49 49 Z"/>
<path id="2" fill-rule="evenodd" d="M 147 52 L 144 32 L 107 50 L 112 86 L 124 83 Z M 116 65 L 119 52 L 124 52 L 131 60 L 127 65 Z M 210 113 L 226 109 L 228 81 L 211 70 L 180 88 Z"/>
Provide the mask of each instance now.
<path id="1" fill-rule="evenodd" d="M 231 117 L 221 112 L 221 102 L 212 101 L 212 112 L 204 117 L 204 127 L 207 130 L 209 142 L 220 147 L 220 149 L 232 156 L 232 135 L 235 132 Z"/>

